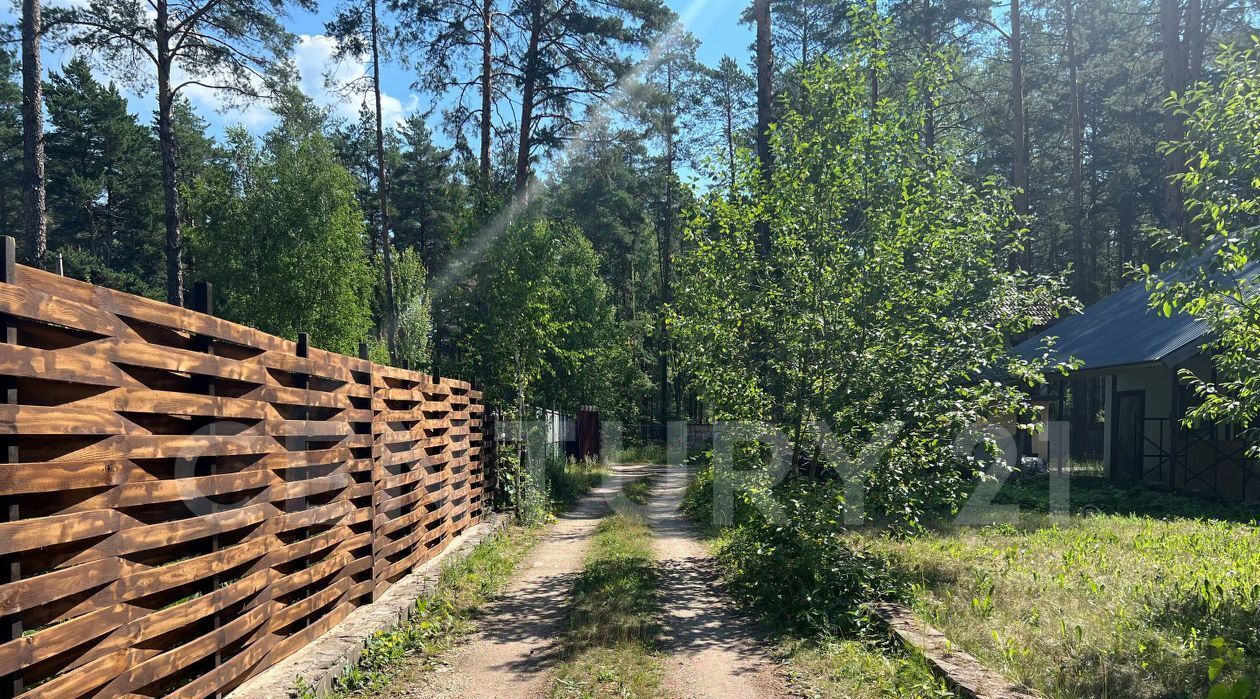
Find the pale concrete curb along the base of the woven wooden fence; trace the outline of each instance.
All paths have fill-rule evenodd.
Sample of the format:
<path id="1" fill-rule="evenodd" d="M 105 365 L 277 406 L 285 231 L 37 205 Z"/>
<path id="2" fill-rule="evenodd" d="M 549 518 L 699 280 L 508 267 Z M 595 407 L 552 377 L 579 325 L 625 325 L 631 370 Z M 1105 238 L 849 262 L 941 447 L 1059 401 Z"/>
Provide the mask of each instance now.
<path id="1" fill-rule="evenodd" d="M 367 639 L 407 621 L 416 608 L 416 600 L 433 592 L 445 563 L 467 555 L 491 534 L 507 528 L 510 519 L 509 515 L 495 514 L 464 531 L 442 553 L 386 591 L 381 600 L 354 610 L 328 634 L 234 689 L 228 699 L 291 699 L 297 696 L 299 680 L 316 696 L 328 696 L 336 678 L 359 661 Z"/>

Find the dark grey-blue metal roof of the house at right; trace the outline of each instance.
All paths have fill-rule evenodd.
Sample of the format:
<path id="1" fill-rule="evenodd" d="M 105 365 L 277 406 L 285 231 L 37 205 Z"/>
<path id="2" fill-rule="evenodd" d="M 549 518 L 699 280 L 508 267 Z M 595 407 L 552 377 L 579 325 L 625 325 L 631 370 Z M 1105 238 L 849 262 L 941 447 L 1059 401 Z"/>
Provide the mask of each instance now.
<path id="1" fill-rule="evenodd" d="M 1260 277 L 1260 263 L 1244 275 Z M 1040 356 L 1046 338 L 1056 338 L 1053 359 L 1079 359 L 1081 372 L 1155 363 L 1176 367 L 1198 353 L 1207 334 L 1205 322 L 1186 314 L 1167 317 L 1153 310 L 1147 282 L 1140 280 L 1021 343 L 1014 353 Z"/>

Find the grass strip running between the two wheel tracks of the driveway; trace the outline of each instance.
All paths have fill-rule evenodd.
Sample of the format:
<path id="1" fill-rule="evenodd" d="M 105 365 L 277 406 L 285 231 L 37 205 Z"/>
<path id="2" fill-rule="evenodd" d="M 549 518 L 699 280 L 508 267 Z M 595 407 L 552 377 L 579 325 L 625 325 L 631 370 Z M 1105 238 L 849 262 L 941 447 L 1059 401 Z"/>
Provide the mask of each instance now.
<path id="1" fill-rule="evenodd" d="M 600 521 L 573 602 L 553 699 L 646 698 L 660 688 L 651 530 L 643 519 Z"/>

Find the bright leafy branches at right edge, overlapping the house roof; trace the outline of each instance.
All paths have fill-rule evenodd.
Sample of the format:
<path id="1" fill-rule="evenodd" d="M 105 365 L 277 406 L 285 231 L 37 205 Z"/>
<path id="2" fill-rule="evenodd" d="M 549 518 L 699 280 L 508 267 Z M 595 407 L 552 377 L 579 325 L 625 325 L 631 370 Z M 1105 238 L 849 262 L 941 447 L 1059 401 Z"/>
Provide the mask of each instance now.
<path id="1" fill-rule="evenodd" d="M 1189 314 L 1208 324 L 1212 377 L 1182 378 L 1200 404 L 1191 423 L 1232 423 L 1260 455 L 1260 38 L 1226 48 L 1220 82 L 1200 83 L 1168 106 L 1186 115 L 1184 141 L 1164 146 L 1184 157 L 1176 178 L 1187 194 L 1201 246 L 1171 241 L 1181 254 L 1167 283 L 1150 277 L 1152 304 L 1166 315 Z"/>

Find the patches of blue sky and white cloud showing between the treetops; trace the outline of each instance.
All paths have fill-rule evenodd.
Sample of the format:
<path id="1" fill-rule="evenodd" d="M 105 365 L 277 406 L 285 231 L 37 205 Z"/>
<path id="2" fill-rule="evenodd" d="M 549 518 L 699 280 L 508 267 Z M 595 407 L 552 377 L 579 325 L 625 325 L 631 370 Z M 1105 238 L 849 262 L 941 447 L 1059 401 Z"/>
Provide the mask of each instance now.
<path id="1" fill-rule="evenodd" d="M 45 0 L 45 4 L 77 3 L 82 0 Z M 334 71 L 336 79 L 348 82 L 363 74 L 363 63 L 341 63 L 334 65 L 331 62 L 335 44 L 324 35 L 324 21 L 333 13 L 336 3 L 320 3 L 319 13 L 295 13 L 292 15 L 291 30 L 297 34 L 299 44 L 294 50 L 294 60 L 301 73 L 301 88 L 310 94 L 316 103 L 328 106 L 334 112 L 355 117 L 359 110 L 359 98 L 346 98 L 330 89 L 324 81 L 324 74 Z M 687 28 L 701 39 L 701 59 L 708 64 L 716 64 L 722 54 L 742 57 L 752 40 L 752 34 L 747 26 L 740 24 L 740 11 L 743 3 L 728 3 L 726 0 L 667 0 L 669 5 L 683 19 Z M 14 9 L 0 11 L 4 21 L 14 20 Z M 69 60 L 71 54 L 60 52 L 47 52 L 45 69 L 57 69 Z M 108 79 L 110 76 L 100 76 Z M 383 113 L 388 122 L 397 123 L 404 116 L 415 111 L 425 111 L 433 99 L 431 94 L 422 94 L 412 89 L 413 73 L 397 62 L 384 67 L 382 73 L 382 86 L 384 87 Z M 126 91 L 126 87 L 123 87 Z M 212 130 L 222 134 L 223 128 L 241 123 L 255 132 L 262 132 L 275 123 L 275 117 L 262 105 L 253 106 L 227 106 L 222 94 L 214 91 L 190 92 L 188 97 L 193 101 L 198 112 L 210 122 Z M 137 115 L 152 113 L 154 97 L 149 92 L 130 93 L 129 101 L 131 111 Z M 433 120 L 437 116 L 435 115 Z"/>

